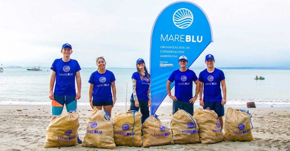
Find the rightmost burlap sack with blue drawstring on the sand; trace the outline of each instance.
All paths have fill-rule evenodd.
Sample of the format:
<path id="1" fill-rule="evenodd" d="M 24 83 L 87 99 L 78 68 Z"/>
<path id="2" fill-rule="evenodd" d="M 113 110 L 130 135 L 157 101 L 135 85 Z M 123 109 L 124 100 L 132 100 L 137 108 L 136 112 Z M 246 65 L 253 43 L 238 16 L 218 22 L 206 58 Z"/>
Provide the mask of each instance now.
<path id="1" fill-rule="evenodd" d="M 253 141 L 250 115 L 229 107 L 226 111 L 223 139 L 226 141 Z"/>

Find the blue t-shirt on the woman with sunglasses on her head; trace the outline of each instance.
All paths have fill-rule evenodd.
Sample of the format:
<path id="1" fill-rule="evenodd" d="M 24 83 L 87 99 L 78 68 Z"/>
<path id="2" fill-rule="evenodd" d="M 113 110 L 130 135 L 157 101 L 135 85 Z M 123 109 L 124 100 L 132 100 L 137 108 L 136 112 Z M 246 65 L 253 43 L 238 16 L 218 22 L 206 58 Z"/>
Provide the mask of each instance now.
<path id="1" fill-rule="evenodd" d="M 111 82 L 114 82 L 113 72 L 106 70 L 105 73 L 95 71 L 89 78 L 89 83 L 93 84 L 93 99 L 98 102 L 108 102 L 112 100 Z"/>

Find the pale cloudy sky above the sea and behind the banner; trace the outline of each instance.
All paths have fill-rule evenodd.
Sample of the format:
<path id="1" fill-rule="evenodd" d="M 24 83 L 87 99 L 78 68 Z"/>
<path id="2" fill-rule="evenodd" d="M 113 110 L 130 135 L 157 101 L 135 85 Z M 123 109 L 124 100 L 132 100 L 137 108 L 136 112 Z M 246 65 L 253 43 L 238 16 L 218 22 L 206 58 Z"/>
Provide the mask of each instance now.
<path id="1" fill-rule="evenodd" d="M 108 67 L 135 68 L 139 57 L 149 63 L 153 23 L 172 2 L 1 0 L 0 64 L 50 67 L 66 42 L 81 67 L 95 67 L 98 56 Z M 192 67 L 205 67 L 209 53 L 216 67 L 290 64 L 290 1 L 191 2 L 205 11 L 213 30 L 213 43 Z"/>

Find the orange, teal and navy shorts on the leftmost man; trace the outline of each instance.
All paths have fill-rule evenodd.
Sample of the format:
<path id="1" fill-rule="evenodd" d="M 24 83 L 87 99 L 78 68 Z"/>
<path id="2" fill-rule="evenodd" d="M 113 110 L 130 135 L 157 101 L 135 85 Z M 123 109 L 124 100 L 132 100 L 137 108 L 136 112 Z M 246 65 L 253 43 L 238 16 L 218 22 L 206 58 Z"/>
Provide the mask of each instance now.
<path id="1" fill-rule="evenodd" d="M 54 100 L 52 100 L 52 116 L 60 116 L 64 109 L 64 104 L 68 112 L 77 111 L 76 95 L 54 95 Z"/>

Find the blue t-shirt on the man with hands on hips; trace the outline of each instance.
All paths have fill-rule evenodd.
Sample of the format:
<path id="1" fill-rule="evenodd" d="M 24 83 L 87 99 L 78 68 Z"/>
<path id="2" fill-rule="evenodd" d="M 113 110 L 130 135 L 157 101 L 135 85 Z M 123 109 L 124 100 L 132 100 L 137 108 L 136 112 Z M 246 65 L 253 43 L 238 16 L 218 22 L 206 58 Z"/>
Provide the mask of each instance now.
<path id="1" fill-rule="evenodd" d="M 181 72 L 179 69 L 172 72 L 169 81 L 175 82 L 175 97 L 182 101 L 188 102 L 193 98 L 192 96 L 192 86 L 193 81 L 197 80 L 196 74 L 187 69 L 185 72 Z"/>

